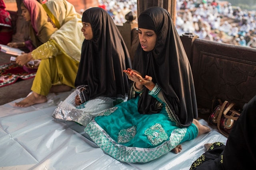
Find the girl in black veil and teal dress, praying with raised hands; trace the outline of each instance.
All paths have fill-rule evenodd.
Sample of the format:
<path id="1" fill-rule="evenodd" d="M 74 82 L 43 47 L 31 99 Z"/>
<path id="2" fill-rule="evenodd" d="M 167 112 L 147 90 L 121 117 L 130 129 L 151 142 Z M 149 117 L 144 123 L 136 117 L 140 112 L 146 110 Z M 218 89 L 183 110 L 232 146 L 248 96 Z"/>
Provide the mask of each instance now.
<path id="1" fill-rule="evenodd" d="M 85 128 L 102 150 L 124 162 L 148 162 L 210 131 L 196 119 L 192 72 L 170 14 L 151 7 L 138 18 L 140 45 L 129 100 L 100 113 Z"/>

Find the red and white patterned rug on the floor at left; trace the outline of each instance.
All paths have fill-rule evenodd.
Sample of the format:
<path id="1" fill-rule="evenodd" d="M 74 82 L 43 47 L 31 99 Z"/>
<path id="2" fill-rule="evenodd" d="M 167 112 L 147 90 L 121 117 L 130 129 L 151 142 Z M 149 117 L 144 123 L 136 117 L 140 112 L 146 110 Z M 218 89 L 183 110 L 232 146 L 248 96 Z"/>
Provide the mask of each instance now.
<path id="1" fill-rule="evenodd" d="M 36 76 L 36 72 L 26 72 L 17 64 L 8 63 L 0 65 L 0 87 L 14 84 L 19 78 L 27 80 Z"/>

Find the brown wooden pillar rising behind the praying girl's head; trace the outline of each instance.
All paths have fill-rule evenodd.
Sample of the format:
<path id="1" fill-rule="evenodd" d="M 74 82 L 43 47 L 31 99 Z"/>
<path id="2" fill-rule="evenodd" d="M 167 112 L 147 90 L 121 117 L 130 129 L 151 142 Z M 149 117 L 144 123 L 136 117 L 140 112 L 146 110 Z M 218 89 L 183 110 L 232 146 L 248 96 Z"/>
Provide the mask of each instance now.
<path id="1" fill-rule="evenodd" d="M 166 9 L 171 18 L 172 21 L 175 24 L 176 21 L 176 0 L 137 0 L 137 13 L 138 16 L 140 16 L 140 13 L 147 8 L 150 8 L 152 6 L 159 6 L 161 8 Z"/>

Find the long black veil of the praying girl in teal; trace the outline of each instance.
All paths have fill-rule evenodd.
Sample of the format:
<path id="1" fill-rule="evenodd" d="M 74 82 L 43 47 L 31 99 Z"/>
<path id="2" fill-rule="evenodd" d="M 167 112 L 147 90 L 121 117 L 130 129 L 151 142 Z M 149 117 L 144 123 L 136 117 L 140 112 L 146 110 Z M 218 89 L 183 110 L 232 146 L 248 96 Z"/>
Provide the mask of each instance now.
<path id="1" fill-rule="evenodd" d="M 149 16 L 155 24 L 156 45 L 152 51 L 146 52 L 139 44 L 132 69 L 140 72 L 142 77 L 152 77 L 152 82 L 160 86 L 164 100 L 172 112 L 169 117 L 177 125 L 188 127 L 198 117 L 198 112 L 192 71 L 180 37 L 165 9 L 151 7 L 142 12 L 140 16 L 142 15 Z M 152 109 L 156 99 L 148 95 L 148 92 L 144 87 L 138 111 L 141 114 L 158 113 L 158 110 Z"/>

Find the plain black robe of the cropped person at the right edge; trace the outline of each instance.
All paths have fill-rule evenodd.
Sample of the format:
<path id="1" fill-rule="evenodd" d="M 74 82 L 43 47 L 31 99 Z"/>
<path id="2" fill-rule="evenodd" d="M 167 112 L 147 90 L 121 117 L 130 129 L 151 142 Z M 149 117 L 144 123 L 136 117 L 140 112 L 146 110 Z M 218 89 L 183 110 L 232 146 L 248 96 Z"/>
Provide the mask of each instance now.
<path id="1" fill-rule="evenodd" d="M 228 135 L 223 165 L 225 170 L 256 167 L 256 96 L 243 108 Z"/>

